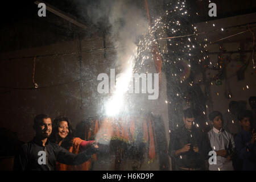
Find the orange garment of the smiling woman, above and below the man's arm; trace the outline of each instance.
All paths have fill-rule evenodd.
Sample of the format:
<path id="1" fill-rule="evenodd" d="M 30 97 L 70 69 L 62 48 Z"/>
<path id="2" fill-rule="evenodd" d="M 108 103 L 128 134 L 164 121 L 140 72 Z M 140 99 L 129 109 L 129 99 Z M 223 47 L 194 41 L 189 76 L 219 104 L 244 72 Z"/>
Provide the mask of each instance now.
<path id="1" fill-rule="evenodd" d="M 84 141 L 81 138 L 73 138 L 73 146 L 69 148 L 69 152 L 72 152 L 73 154 L 79 153 L 79 147 L 80 143 Z M 82 163 L 80 165 L 67 165 L 57 162 L 56 164 L 56 170 L 57 171 L 88 171 L 91 167 L 92 159 L 87 160 L 85 163 Z"/>

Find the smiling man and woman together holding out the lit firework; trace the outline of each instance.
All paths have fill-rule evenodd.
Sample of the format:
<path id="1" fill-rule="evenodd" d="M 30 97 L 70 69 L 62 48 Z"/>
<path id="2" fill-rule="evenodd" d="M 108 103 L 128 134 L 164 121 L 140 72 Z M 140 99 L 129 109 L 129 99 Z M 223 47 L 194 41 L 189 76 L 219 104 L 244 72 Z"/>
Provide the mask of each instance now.
<path id="1" fill-rule="evenodd" d="M 34 118 L 36 135 L 23 144 L 15 157 L 14 170 L 53 171 L 88 170 L 88 160 L 98 152 L 96 141 L 75 138 L 68 118 L 49 115 Z"/>

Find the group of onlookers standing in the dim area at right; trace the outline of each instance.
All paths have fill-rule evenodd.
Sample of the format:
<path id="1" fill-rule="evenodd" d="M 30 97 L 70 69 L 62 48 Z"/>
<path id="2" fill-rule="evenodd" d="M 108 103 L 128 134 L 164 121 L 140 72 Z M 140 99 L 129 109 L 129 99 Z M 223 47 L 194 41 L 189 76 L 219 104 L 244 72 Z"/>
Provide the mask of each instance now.
<path id="1" fill-rule="evenodd" d="M 204 132 L 197 127 L 192 109 L 183 111 L 184 125 L 171 131 L 169 155 L 176 170 L 233 171 L 256 170 L 256 98 L 250 97 L 250 110 L 239 110 L 230 102 L 229 112 L 209 114 L 212 129 Z M 212 152 L 210 152 L 212 151 Z M 210 158 L 216 155 L 214 158 Z M 213 159 L 213 162 L 209 160 Z"/>

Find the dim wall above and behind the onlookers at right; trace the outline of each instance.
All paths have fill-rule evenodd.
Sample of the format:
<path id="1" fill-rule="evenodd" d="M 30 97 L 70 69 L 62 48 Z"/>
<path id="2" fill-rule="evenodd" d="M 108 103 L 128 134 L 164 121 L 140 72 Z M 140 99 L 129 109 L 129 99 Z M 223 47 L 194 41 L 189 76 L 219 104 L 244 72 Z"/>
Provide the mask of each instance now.
<path id="1" fill-rule="evenodd" d="M 221 41 L 217 41 L 217 40 L 248 30 L 246 26 L 229 28 L 228 30 L 226 30 L 225 27 L 232 27 L 232 26 L 238 26 L 246 23 L 253 23 L 256 20 L 255 17 L 256 17 L 256 14 L 247 14 L 247 15 L 241 15 L 241 16 L 234 16 L 226 19 L 218 19 L 218 20 L 207 22 L 207 23 L 205 22 L 199 23 L 196 26 L 198 27 L 198 32 L 208 32 L 207 34 L 205 35 L 203 34 L 202 36 L 199 36 L 199 37 L 201 41 L 204 38 L 208 39 L 207 49 L 209 53 L 220 52 L 220 46 L 222 47 L 223 50 L 226 50 L 229 52 L 239 51 L 239 50 L 248 51 L 253 49 L 253 36 L 250 31 L 247 31 L 245 33 L 242 33 L 236 36 L 232 36 L 228 39 L 224 39 Z M 215 26 L 213 26 L 213 24 Z M 252 24 L 251 27 L 253 26 L 254 25 Z M 221 28 L 224 28 L 224 31 L 211 32 L 213 30 L 220 30 Z M 255 34 L 255 29 L 253 31 Z M 209 42 L 214 42 L 214 43 L 209 44 Z M 215 82 L 213 82 L 213 85 L 210 86 L 211 100 L 208 102 L 208 104 L 210 105 L 210 102 L 212 102 L 212 106 L 208 107 L 207 115 L 213 110 L 221 111 L 221 113 L 224 114 L 229 109 L 230 101 L 245 101 L 247 102 L 247 105 L 246 105 L 247 109 L 250 109 L 248 99 L 250 96 L 255 96 L 255 90 L 256 90 L 256 84 L 255 84 L 256 71 L 253 68 L 253 61 L 251 56 L 252 56 L 251 52 L 222 54 L 223 62 L 224 64 L 227 64 L 226 65 L 227 78 L 222 80 L 221 85 L 216 85 Z M 209 57 L 210 57 L 210 60 L 212 61 L 212 64 L 216 65 L 218 54 L 216 53 L 210 54 Z M 254 54 L 254 60 L 255 60 L 255 54 Z M 238 80 L 237 71 L 247 61 L 249 61 L 249 65 L 246 67 L 246 70 L 245 70 L 245 78 L 243 80 Z M 212 71 L 207 69 L 207 72 L 206 72 L 207 78 L 213 77 L 216 74 L 217 74 L 217 71 Z M 201 74 L 197 75 L 195 82 L 198 82 L 199 80 L 201 80 L 201 78 L 202 78 Z M 247 85 L 249 86 L 249 89 L 247 89 L 246 87 Z M 203 85 L 202 85 L 202 89 L 204 89 Z M 225 96 L 226 90 L 231 93 L 232 98 L 228 98 Z"/>

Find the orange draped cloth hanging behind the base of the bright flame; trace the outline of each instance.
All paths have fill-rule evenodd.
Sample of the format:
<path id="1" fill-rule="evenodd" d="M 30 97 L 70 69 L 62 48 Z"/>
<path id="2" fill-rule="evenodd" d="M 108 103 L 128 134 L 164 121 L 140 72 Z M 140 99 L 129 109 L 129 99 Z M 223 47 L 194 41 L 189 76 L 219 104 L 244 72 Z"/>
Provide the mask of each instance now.
<path id="1" fill-rule="evenodd" d="M 88 127 L 91 136 L 95 137 L 98 134 L 99 139 L 124 139 L 131 141 L 134 139 L 137 131 L 142 130 L 143 141 L 148 146 L 148 159 L 156 158 L 156 140 L 154 122 L 150 117 L 144 119 L 127 117 L 127 118 L 103 118 L 102 120 L 96 119 L 92 121 L 92 127 Z M 97 126 L 98 125 L 98 126 Z M 97 133 L 95 133 L 97 131 Z M 129 135 L 129 131 L 131 137 Z M 99 133 L 100 132 L 100 133 Z M 93 159 L 97 160 L 97 156 L 93 155 Z M 93 160 L 92 159 L 92 160 Z"/>

